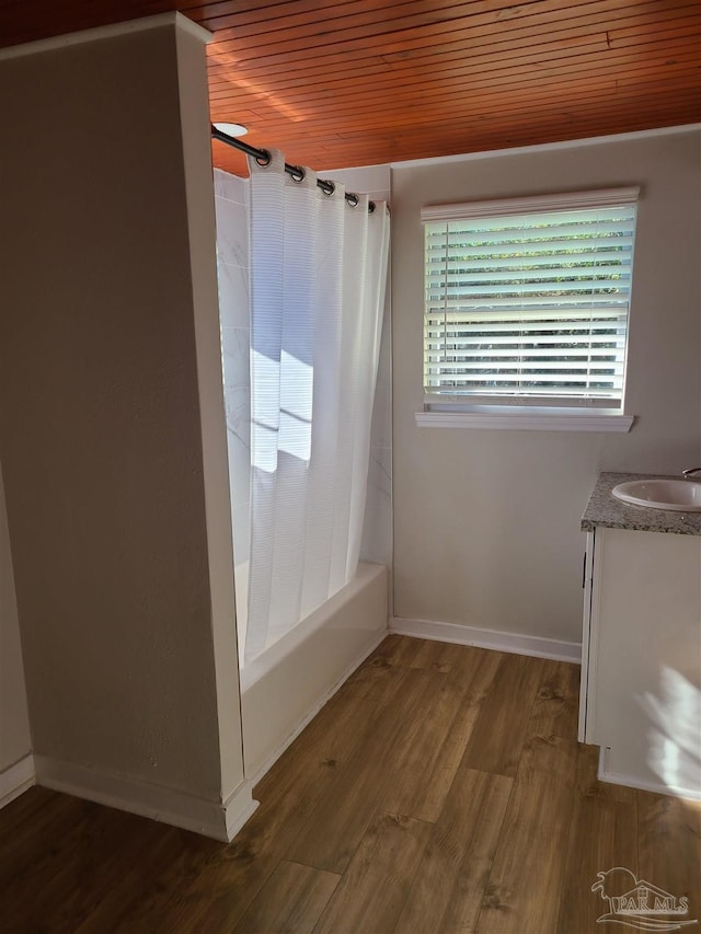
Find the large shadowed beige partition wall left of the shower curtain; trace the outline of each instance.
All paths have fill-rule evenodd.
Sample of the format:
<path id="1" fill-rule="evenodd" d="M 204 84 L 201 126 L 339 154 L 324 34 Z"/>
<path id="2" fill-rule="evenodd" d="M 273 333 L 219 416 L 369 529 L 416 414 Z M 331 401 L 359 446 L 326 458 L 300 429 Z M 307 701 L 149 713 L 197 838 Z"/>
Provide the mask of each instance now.
<path id="1" fill-rule="evenodd" d="M 176 32 L 0 60 L 0 446 L 35 752 L 220 802 L 242 760 L 214 203 L 204 46 Z"/>

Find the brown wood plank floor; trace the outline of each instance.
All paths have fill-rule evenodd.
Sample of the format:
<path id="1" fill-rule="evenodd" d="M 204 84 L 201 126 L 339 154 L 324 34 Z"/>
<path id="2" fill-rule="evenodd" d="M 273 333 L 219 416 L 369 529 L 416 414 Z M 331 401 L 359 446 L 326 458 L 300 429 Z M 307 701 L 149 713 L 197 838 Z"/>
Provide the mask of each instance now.
<path id="1" fill-rule="evenodd" d="M 0 931 L 600 934 L 617 866 L 701 922 L 701 811 L 596 780 L 578 673 L 389 636 L 228 846 L 32 788 L 0 811 Z"/>

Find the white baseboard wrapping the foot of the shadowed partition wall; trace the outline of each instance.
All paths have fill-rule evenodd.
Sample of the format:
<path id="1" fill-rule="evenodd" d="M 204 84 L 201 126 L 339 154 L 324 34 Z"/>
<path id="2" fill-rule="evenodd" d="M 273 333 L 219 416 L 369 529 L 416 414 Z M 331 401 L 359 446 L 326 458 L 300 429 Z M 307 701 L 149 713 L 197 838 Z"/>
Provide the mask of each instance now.
<path id="1" fill-rule="evenodd" d="M 122 775 L 35 756 L 36 783 L 228 843 L 257 807 L 246 783 L 222 804 Z"/>

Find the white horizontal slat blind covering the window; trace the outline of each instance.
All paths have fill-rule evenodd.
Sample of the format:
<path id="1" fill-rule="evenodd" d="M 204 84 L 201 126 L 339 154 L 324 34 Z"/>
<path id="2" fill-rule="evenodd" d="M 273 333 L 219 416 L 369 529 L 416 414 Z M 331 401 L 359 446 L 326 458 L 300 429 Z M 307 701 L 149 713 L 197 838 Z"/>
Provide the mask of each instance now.
<path id="1" fill-rule="evenodd" d="M 424 208 L 426 402 L 620 408 L 636 197 Z"/>

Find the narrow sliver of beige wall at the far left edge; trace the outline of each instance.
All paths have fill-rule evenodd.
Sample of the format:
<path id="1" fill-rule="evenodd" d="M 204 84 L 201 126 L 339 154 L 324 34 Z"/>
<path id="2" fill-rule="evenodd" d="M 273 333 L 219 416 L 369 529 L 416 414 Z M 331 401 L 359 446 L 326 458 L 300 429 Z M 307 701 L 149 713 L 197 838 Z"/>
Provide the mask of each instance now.
<path id="1" fill-rule="evenodd" d="M 0 469 L 0 773 L 31 752 L 12 555 Z"/>

